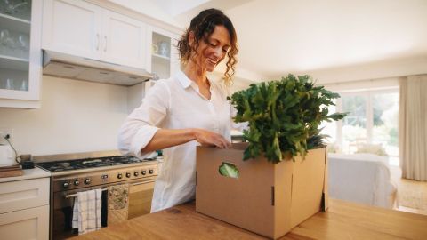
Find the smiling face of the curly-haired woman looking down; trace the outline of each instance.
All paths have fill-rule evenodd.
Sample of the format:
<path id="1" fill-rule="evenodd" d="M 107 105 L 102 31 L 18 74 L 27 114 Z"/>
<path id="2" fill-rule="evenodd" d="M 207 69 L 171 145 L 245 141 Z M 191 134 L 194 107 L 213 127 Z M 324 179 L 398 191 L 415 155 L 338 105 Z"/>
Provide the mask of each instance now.
<path id="1" fill-rule="evenodd" d="M 189 44 L 194 43 L 194 35 L 189 34 Z M 230 34 L 227 28 L 217 25 L 211 36 L 201 39 L 197 46 L 197 54 L 193 52 L 192 58 L 199 68 L 212 72 L 214 68 L 225 58 L 230 49 Z"/>

